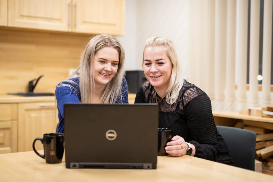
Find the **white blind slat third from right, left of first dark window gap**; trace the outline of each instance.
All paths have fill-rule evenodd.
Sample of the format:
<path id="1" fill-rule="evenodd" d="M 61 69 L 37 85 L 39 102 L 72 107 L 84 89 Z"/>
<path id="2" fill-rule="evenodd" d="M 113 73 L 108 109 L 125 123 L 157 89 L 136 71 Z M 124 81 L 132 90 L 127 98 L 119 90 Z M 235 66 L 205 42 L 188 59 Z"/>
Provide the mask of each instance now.
<path id="1" fill-rule="evenodd" d="M 237 72 L 237 100 L 246 101 L 246 83 L 247 83 L 247 13 L 248 1 L 237 1 L 237 20 L 236 22 L 236 62 L 238 62 Z"/>

